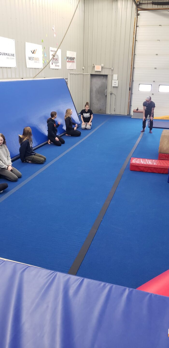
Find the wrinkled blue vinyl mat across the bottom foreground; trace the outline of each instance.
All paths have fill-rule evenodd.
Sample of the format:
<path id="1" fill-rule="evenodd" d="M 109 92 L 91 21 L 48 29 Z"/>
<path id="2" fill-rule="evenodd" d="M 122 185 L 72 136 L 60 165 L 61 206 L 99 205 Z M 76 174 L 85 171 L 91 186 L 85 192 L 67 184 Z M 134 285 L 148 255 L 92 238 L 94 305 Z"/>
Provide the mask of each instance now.
<path id="1" fill-rule="evenodd" d="M 0 260 L 1 348 L 168 348 L 169 298 Z"/>

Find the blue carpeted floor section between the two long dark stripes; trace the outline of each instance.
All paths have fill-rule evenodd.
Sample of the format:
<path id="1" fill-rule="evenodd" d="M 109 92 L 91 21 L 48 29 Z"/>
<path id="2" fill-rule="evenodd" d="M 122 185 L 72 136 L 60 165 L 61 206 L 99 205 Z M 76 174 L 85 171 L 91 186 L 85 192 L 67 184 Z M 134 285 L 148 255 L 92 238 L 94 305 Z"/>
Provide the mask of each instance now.
<path id="1" fill-rule="evenodd" d="M 110 118 L 3 200 L 1 257 L 67 272 L 138 138 L 139 125 L 137 119 Z"/>

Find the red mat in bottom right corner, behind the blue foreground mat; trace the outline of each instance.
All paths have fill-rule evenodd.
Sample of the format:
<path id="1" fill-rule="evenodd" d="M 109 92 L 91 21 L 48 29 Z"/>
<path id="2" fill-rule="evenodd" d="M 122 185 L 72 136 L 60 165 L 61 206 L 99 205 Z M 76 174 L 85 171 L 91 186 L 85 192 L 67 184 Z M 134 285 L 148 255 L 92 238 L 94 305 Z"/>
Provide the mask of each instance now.
<path id="1" fill-rule="evenodd" d="M 153 294 L 169 296 L 169 270 L 139 286 L 137 290 L 151 292 Z"/>

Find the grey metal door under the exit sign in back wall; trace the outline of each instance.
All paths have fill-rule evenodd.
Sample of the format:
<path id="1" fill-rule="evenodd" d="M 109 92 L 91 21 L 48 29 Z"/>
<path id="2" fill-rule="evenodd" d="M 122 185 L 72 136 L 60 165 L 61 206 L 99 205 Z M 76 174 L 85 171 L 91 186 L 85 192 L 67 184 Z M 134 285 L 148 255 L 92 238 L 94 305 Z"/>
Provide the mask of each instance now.
<path id="1" fill-rule="evenodd" d="M 106 113 L 107 75 L 91 75 L 90 109 L 94 113 Z"/>

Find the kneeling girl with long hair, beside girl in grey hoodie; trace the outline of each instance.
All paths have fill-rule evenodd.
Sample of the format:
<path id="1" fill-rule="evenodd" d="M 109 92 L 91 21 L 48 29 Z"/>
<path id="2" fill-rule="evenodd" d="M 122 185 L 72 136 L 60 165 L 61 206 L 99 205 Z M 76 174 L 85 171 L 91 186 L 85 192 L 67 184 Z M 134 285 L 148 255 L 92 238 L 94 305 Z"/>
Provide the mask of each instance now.
<path id="1" fill-rule="evenodd" d="M 23 129 L 23 134 L 19 135 L 19 154 L 22 162 L 42 164 L 46 161 L 46 157 L 33 151 L 32 146 L 32 130 L 30 127 Z"/>

